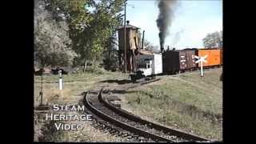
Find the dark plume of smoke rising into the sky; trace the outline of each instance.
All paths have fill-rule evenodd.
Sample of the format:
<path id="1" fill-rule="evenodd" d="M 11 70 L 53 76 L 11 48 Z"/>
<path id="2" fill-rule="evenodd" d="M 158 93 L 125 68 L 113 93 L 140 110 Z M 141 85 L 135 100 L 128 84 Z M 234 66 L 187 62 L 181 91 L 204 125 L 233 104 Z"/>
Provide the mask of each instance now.
<path id="1" fill-rule="evenodd" d="M 169 26 L 174 18 L 174 6 L 177 0 L 158 0 L 158 19 L 157 26 L 159 30 L 159 42 L 161 51 L 164 50 L 166 36 L 169 34 Z"/>

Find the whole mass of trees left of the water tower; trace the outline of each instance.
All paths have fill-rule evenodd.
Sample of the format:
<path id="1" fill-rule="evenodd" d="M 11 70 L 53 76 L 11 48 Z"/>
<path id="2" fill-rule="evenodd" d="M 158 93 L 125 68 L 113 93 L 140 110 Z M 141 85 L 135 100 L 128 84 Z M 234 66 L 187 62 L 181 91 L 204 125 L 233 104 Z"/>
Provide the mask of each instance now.
<path id="1" fill-rule="evenodd" d="M 35 0 L 36 66 L 81 66 L 113 60 L 123 0 Z"/>

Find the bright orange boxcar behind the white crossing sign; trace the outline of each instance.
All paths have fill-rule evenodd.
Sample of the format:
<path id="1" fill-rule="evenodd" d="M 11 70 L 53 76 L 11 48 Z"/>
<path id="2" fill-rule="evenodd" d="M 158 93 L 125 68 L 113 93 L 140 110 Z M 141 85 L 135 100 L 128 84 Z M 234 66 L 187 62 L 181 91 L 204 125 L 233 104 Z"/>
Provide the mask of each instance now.
<path id="1" fill-rule="evenodd" d="M 198 56 L 203 57 L 207 55 L 206 63 L 203 66 L 218 66 L 222 63 L 221 50 L 220 49 L 198 49 Z M 198 67 L 200 64 L 198 64 Z"/>

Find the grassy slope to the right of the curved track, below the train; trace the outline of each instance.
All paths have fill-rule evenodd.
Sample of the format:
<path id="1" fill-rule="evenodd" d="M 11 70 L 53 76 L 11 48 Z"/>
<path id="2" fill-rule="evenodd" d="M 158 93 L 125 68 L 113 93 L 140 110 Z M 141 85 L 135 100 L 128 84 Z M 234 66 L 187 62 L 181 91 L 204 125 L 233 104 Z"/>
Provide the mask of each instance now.
<path id="1" fill-rule="evenodd" d="M 161 81 L 128 90 L 135 113 L 206 138 L 222 140 L 222 69 L 160 76 Z"/>

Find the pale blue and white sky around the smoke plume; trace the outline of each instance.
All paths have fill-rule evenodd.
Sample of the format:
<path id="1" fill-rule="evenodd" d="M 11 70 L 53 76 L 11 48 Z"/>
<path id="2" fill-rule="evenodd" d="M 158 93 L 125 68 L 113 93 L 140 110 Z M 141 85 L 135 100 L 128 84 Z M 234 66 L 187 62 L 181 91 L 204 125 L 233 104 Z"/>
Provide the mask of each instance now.
<path id="1" fill-rule="evenodd" d="M 126 20 L 145 30 L 145 38 L 159 46 L 158 2 L 156 0 L 128 0 Z M 184 48 L 202 48 L 206 34 L 222 30 L 222 0 L 178 0 L 173 22 L 165 45 Z"/>

